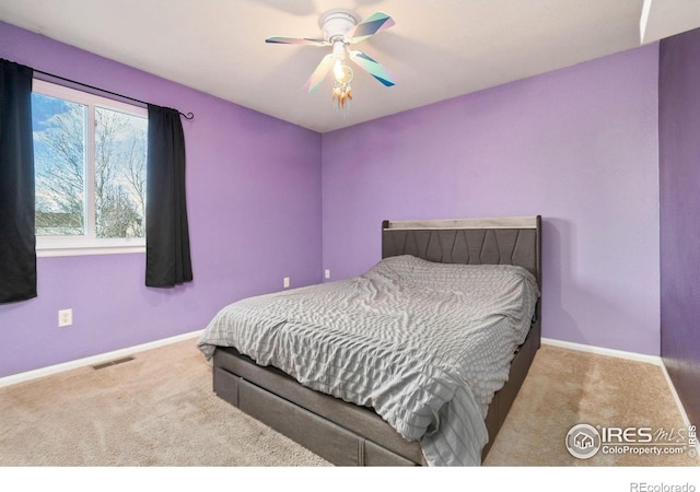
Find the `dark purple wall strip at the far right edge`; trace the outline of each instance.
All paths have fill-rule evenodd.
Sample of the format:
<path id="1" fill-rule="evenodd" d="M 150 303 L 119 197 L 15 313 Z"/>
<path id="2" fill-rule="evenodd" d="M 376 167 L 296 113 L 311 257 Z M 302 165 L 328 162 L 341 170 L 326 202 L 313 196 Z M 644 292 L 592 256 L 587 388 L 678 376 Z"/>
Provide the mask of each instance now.
<path id="1" fill-rule="evenodd" d="M 660 50 L 661 354 L 700 422 L 700 30 Z"/>

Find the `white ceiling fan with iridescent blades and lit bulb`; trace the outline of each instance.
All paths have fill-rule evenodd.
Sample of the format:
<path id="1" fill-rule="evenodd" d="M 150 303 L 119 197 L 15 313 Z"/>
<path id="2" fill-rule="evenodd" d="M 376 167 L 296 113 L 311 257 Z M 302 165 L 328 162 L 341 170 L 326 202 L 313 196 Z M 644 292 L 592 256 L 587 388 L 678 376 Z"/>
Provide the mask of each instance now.
<path id="1" fill-rule="evenodd" d="M 394 79 L 377 61 L 364 52 L 350 49 L 350 45 L 360 43 L 375 34 L 392 27 L 394 20 L 384 12 L 375 12 L 364 20 L 358 14 L 346 9 L 334 9 L 325 12 L 318 20 L 323 30 L 323 39 L 310 37 L 273 36 L 265 39 L 266 43 L 289 45 L 330 46 L 332 52 L 326 55 L 311 74 L 304 89 L 314 92 L 332 69 L 334 89 L 332 101 L 337 109 L 343 109 L 347 114 L 352 92 L 350 83 L 354 78 L 352 68 L 346 65 L 350 58 L 355 65 L 365 70 L 386 86 L 395 84 Z"/>

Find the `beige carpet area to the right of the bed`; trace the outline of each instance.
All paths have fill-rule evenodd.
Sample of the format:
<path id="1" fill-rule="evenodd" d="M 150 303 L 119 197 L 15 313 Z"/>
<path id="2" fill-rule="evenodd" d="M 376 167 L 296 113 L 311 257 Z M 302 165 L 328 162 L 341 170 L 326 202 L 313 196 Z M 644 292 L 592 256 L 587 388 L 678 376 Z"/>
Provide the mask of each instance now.
<path id="1" fill-rule="evenodd" d="M 605 454 L 579 459 L 565 436 L 576 424 L 651 427 L 669 444 L 688 431 L 662 368 L 654 364 L 542 345 L 485 460 L 492 466 L 698 466 L 697 448 L 680 455 Z M 658 446 L 664 447 L 664 446 Z"/>

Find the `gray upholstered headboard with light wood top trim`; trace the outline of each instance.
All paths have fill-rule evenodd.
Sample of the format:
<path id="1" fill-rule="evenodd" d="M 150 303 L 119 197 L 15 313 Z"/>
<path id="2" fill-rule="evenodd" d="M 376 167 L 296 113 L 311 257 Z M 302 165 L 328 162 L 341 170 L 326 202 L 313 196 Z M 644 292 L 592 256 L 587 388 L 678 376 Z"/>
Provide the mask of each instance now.
<path id="1" fill-rule="evenodd" d="M 382 258 L 412 255 L 441 263 L 517 265 L 541 289 L 541 218 L 384 221 Z"/>

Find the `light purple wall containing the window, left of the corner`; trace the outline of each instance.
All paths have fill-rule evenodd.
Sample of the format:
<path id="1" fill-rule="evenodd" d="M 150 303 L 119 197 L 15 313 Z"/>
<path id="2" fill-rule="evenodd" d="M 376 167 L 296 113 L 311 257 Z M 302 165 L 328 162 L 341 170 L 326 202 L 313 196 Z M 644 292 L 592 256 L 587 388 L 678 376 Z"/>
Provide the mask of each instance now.
<path id="1" fill-rule="evenodd" d="M 184 120 L 195 281 L 147 289 L 144 255 L 39 258 L 38 297 L 0 305 L 0 377 L 202 329 L 246 295 L 320 281 L 320 136 L 0 23 L 0 57 Z M 73 326 L 57 328 L 58 309 Z"/>

